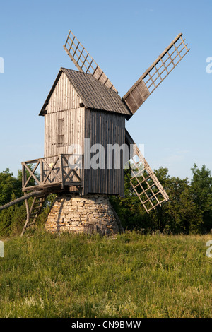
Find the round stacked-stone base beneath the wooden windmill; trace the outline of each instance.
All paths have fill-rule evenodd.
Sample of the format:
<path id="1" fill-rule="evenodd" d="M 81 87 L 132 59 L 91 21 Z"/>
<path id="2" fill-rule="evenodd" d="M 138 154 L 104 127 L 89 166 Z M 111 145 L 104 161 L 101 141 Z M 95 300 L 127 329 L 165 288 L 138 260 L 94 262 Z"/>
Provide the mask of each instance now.
<path id="1" fill-rule="evenodd" d="M 86 232 L 114 235 L 122 232 L 119 218 L 105 195 L 63 195 L 56 198 L 49 212 L 47 232 Z"/>

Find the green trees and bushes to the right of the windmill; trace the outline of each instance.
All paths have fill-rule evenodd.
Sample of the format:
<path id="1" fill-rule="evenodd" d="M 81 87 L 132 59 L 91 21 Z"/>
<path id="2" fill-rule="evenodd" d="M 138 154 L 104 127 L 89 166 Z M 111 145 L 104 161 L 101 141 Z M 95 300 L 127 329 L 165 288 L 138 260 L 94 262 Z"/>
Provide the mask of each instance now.
<path id="1" fill-rule="evenodd" d="M 212 229 L 212 178 L 203 166 L 194 165 L 191 183 L 187 178 L 170 177 L 167 168 L 154 170 L 169 196 L 169 201 L 146 214 L 125 174 L 125 196 L 112 196 L 110 201 L 129 230 L 159 230 L 173 234 L 206 233 Z"/>

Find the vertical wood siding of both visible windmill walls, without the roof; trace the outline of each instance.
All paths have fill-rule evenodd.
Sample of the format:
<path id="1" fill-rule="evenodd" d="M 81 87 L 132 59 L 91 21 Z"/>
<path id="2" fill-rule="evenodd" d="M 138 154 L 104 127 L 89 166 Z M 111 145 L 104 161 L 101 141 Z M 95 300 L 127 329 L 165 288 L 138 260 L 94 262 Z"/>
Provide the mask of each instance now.
<path id="1" fill-rule="evenodd" d="M 45 114 L 45 158 L 68 153 L 71 144 L 79 144 L 84 153 L 84 138 L 90 146 L 105 147 L 105 169 L 84 170 L 83 194 L 119 194 L 124 196 L 124 169 L 107 169 L 107 144 L 125 143 L 123 114 L 85 109 L 64 73 L 49 99 Z M 95 155 L 95 153 L 94 153 Z M 92 154 L 90 158 L 92 158 Z M 49 162 L 52 162 L 51 160 Z"/>

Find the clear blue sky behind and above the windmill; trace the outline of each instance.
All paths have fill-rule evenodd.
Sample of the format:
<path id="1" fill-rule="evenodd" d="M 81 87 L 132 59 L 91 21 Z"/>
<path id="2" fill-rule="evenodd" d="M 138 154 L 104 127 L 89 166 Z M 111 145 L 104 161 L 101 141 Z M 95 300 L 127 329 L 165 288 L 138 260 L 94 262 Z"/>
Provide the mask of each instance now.
<path id="1" fill-rule="evenodd" d="M 191 177 L 194 162 L 212 170 L 212 1 L 1 1 L 0 172 L 44 153 L 40 109 L 59 68 L 75 69 L 63 49 L 69 29 L 121 97 L 182 32 L 189 54 L 126 122 L 153 169 Z"/>

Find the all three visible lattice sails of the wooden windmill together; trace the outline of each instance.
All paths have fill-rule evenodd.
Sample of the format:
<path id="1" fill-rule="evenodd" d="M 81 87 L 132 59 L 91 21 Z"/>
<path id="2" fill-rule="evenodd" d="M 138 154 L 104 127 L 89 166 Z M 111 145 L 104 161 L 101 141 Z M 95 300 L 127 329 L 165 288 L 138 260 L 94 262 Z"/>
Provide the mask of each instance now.
<path id="1" fill-rule="evenodd" d="M 110 82 L 109 78 L 107 78 L 102 69 L 100 69 L 100 66 L 98 66 L 93 57 L 90 56 L 85 47 L 83 47 L 81 42 L 77 40 L 76 36 L 73 35 L 73 32 L 70 30 L 64 45 L 64 50 L 69 55 L 79 71 L 90 73 L 98 81 L 107 86 L 107 88 L 110 88 L 117 93 L 117 89 L 114 88 L 114 85 Z M 131 118 L 131 116 L 139 109 L 139 107 L 141 107 L 143 102 L 145 102 L 145 100 L 153 93 L 156 88 L 158 88 L 158 85 L 160 85 L 160 83 L 164 81 L 164 79 L 175 68 L 175 66 L 179 64 L 179 61 L 182 60 L 187 52 L 189 52 L 189 49 L 187 48 L 187 44 L 185 44 L 185 40 L 182 38 L 181 33 L 177 35 L 175 40 L 170 43 L 170 45 L 163 51 L 163 53 L 160 54 L 160 56 L 145 71 L 145 73 L 141 75 L 139 80 L 136 81 L 136 83 L 134 83 L 134 85 L 122 97 L 122 102 L 124 102 L 124 104 L 131 112 L 129 117 L 126 116 L 126 119 L 129 120 Z M 146 212 L 149 212 L 152 208 L 160 205 L 163 201 L 167 201 L 168 196 L 126 129 L 125 141 L 129 145 L 131 144 L 134 146 L 133 152 L 129 159 L 133 159 L 134 155 L 137 155 L 139 162 L 135 162 L 133 159 L 134 164 L 137 165 L 141 162 L 143 165 L 141 174 L 135 174 L 136 172 L 133 172 L 134 176 L 130 179 L 130 182 L 134 187 L 134 191 L 139 197 Z M 146 177 L 144 177 L 143 170 L 146 170 Z M 139 175 L 142 177 L 141 181 L 138 179 Z M 136 185 L 134 185 L 132 182 L 134 178 L 138 182 Z M 151 182 L 151 184 L 149 182 Z M 143 189 L 144 183 L 146 183 L 146 190 Z M 138 191 L 138 189 L 136 189 L 137 187 L 139 187 L 141 190 Z M 158 190 L 156 192 L 153 191 L 153 187 L 154 189 L 156 187 Z M 141 199 L 141 196 L 143 196 L 143 200 Z M 158 196 L 160 196 L 159 199 Z"/>

